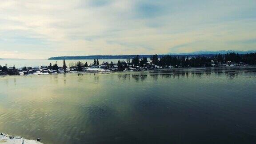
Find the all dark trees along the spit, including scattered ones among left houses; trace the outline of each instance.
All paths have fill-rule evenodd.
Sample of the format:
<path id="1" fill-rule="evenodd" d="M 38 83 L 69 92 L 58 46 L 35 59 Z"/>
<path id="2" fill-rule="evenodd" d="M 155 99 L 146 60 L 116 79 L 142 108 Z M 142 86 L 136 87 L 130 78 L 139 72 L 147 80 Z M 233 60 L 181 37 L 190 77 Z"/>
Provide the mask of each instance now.
<path id="1" fill-rule="evenodd" d="M 248 65 L 256 65 L 256 52 L 255 53 L 248 53 L 248 54 L 238 54 L 234 52 L 222 54 L 216 54 L 215 56 L 171 56 L 171 55 L 153 55 L 150 57 L 151 63 L 148 63 L 148 58 L 142 57 L 140 58 L 139 55 L 130 60 L 128 57 L 127 62 L 118 60 L 117 67 L 118 70 L 124 70 L 128 68 L 129 65 L 143 67 L 145 64 L 151 65 L 155 64 L 157 66 L 161 66 L 162 68 L 166 68 L 168 66 L 173 67 L 210 67 L 212 64 L 220 65 L 220 64 L 248 64 Z M 99 66 L 99 60 L 94 59 L 93 64 L 94 66 Z M 152 66 L 152 65 L 151 65 Z M 88 63 L 70 63 L 69 68 L 76 67 L 78 71 L 82 71 L 83 67 L 88 67 Z M 107 65 L 107 68 L 113 68 L 113 62 Z M 13 66 L 15 69 L 15 66 Z M 58 70 L 59 66 L 56 64 L 49 64 L 48 69 Z M 67 65 L 65 60 L 63 61 L 63 68 L 66 70 Z M 22 68 L 23 70 L 27 70 L 26 67 Z M 1 72 L 8 72 L 7 64 L 5 66 L 0 65 Z"/>

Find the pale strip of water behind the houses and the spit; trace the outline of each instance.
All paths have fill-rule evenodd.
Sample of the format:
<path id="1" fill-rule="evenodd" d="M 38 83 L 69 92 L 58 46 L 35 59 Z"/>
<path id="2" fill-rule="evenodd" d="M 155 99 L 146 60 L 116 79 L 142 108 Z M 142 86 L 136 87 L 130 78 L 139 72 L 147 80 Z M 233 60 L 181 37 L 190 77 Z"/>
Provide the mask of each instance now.
<path id="1" fill-rule="evenodd" d="M 99 63 L 101 64 L 103 61 L 108 62 L 115 62 L 117 63 L 118 60 L 124 60 L 124 59 L 99 59 Z M 34 66 L 43 66 L 43 65 L 49 65 L 50 63 L 55 64 L 57 61 L 57 64 L 59 66 L 63 66 L 63 60 L 16 60 L 16 59 L 0 59 L 0 65 L 4 66 L 5 64 L 8 65 L 8 67 L 12 67 L 13 65 L 16 66 L 16 68 L 20 67 L 34 67 Z M 78 61 L 85 63 L 87 62 L 89 64 L 93 64 L 93 60 L 65 60 L 66 65 L 68 66 L 70 63 L 76 63 Z"/>

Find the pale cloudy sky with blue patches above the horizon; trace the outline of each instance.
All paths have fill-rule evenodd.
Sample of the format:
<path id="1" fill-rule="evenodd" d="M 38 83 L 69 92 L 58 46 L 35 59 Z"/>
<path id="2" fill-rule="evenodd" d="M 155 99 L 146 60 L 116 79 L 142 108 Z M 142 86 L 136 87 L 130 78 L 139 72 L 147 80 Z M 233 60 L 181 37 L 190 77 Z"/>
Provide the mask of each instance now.
<path id="1" fill-rule="evenodd" d="M 0 0 L 0 58 L 256 50 L 256 0 Z"/>

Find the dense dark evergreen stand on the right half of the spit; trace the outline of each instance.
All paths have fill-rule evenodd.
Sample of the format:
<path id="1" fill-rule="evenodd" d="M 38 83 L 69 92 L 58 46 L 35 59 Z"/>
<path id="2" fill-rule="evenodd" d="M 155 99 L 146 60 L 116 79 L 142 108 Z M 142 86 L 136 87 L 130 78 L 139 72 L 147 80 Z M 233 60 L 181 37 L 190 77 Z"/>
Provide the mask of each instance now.
<path id="1" fill-rule="evenodd" d="M 153 55 L 150 57 L 152 64 L 157 66 L 161 66 L 163 68 L 167 66 L 180 66 L 180 67 L 210 67 L 212 64 L 225 64 L 225 63 L 234 63 L 234 64 L 248 64 L 248 65 L 256 65 L 256 52 L 239 55 L 238 53 L 226 53 L 224 55 L 216 54 L 215 56 L 206 57 L 206 56 L 196 56 L 196 57 L 188 57 L 188 56 L 157 56 Z M 148 62 L 147 57 L 143 57 L 141 60 L 137 55 L 132 59 L 131 64 L 136 66 L 143 66 Z"/>

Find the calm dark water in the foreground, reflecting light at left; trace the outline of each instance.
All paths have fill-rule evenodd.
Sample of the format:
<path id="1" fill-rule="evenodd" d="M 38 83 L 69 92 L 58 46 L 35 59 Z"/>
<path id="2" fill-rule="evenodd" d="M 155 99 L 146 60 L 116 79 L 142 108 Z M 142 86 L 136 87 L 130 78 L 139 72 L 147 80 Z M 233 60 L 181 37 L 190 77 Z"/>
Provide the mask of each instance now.
<path id="1" fill-rule="evenodd" d="M 0 77 L 0 132 L 46 144 L 255 144 L 256 68 Z"/>

